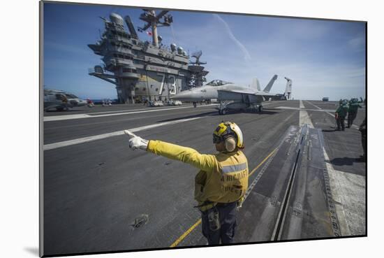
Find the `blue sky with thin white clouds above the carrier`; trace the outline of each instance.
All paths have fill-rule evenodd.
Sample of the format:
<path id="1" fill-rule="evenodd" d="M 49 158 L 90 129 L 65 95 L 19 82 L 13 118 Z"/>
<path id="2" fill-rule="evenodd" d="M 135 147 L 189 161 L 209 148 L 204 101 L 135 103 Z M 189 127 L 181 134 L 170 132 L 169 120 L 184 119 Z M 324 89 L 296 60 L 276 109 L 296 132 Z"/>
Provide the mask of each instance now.
<path id="1" fill-rule="evenodd" d="M 45 3 L 43 11 L 43 79 L 50 89 L 63 89 L 91 99 L 116 99 L 115 85 L 88 69 L 102 64 L 87 44 L 103 32 L 100 17 L 129 15 L 142 27 L 140 8 Z M 158 13 L 158 11 L 157 11 Z M 364 22 L 309 20 L 224 13 L 170 11 L 171 27 L 158 28 L 163 44 L 176 43 L 192 54 L 202 50 L 207 82 L 214 79 L 263 88 L 278 75 L 271 92 L 283 93 L 284 77 L 293 80 L 294 99 L 364 98 L 366 34 Z M 127 29 L 127 27 L 126 27 Z M 127 29 L 128 31 L 128 29 Z M 142 41 L 152 37 L 138 32 Z"/>

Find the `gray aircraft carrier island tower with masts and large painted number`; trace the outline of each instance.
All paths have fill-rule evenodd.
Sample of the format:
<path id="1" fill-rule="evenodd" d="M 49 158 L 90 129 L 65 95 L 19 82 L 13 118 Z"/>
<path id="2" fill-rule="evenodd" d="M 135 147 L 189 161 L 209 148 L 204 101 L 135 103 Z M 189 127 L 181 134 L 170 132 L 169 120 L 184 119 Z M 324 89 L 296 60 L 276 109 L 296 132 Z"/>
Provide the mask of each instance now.
<path id="1" fill-rule="evenodd" d="M 124 29 L 120 15 L 111 13 L 110 21 L 102 18 L 105 31 L 96 44 L 88 46 L 96 55 L 102 56 L 103 64 L 89 69 L 89 75 L 116 85 L 119 103 L 163 101 L 205 82 L 208 71 L 201 66 L 206 64 L 200 62 L 201 51 L 191 55 L 195 58 L 192 62 L 181 46 L 172 43 L 168 47 L 161 42 L 156 28 L 170 26 L 173 19 L 167 13 L 168 10 L 162 10 L 156 15 L 155 10 L 144 10 L 140 15 L 140 20 L 146 23 L 138 30 L 147 31 L 151 27 L 147 34 L 152 34 L 152 43 L 140 41 L 128 15 L 124 20 L 129 33 Z"/>

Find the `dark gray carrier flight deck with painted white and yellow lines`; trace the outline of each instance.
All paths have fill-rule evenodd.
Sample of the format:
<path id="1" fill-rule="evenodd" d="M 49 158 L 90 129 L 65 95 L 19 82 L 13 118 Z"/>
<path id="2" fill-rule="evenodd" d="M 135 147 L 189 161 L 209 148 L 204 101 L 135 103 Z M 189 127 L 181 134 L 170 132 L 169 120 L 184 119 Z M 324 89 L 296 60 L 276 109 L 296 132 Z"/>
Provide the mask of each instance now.
<path id="1" fill-rule="evenodd" d="M 286 223 L 279 226 L 287 230 L 281 231 L 279 239 L 334 234 L 332 226 L 328 229 L 325 225 L 327 222 L 319 223 L 325 226 L 317 235 L 313 233 L 319 227 L 312 227 L 311 220 L 323 220 L 327 215 L 307 215 L 308 220 L 304 215 L 292 217 L 300 210 L 297 206 L 300 200 L 311 201 L 307 198 L 309 194 L 317 194 L 317 199 L 312 201 L 320 202 L 319 192 L 311 192 L 311 185 L 306 185 L 309 181 L 303 171 L 311 170 L 311 176 L 320 175 L 321 166 L 329 174 L 340 234 L 364 235 L 366 164 L 360 159 L 362 146 L 357 128 L 365 117 L 365 109 L 359 110 L 352 128 L 334 131 L 333 114 L 337 102 L 273 101 L 263 106 L 262 113 L 228 115 L 219 115 L 214 105 L 196 108 L 190 105 L 161 108 L 115 105 L 45 112 L 44 254 L 206 245 L 201 234 L 200 212 L 193 208 L 196 204 L 194 177 L 198 170 L 142 150 L 130 150 L 128 137 L 122 131 L 131 129 L 145 139 L 214 153 L 212 131 L 223 120 L 235 122 L 242 129 L 244 153 L 251 173 L 249 184 L 258 178 L 239 210 L 237 243 L 271 241 L 274 232 L 276 234 L 275 223 L 265 224 L 266 218 L 270 219 L 265 210 L 268 203 L 274 203 L 274 214 L 279 217 L 279 198 L 284 199 L 290 181 L 290 171 L 284 172 L 286 159 L 281 153 L 295 148 L 295 137 L 300 137 L 303 124 L 309 124 L 308 144 L 311 137 L 323 137 L 322 145 L 312 138 L 314 149 L 311 153 L 325 162 L 308 165 L 312 170 L 297 170 L 295 182 L 301 183 L 291 189 L 293 199 L 287 201 Z M 289 132 L 292 144 L 284 142 Z M 315 134 L 318 136 L 313 136 Z M 307 163 L 301 165 L 307 166 Z M 286 178 L 281 178 L 283 173 L 287 173 Z M 320 188 L 326 195 L 326 189 Z M 326 199 L 321 201 L 329 208 Z M 315 214 L 313 209 L 302 206 L 307 214 Z"/>

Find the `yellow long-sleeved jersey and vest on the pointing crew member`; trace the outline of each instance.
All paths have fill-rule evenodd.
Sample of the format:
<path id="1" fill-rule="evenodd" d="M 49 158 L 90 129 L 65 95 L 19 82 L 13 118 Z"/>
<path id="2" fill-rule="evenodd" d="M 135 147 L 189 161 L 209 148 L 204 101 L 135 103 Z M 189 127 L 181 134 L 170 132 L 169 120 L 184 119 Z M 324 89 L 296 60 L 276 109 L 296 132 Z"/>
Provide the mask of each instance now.
<path id="1" fill-rule="evenodd" d="M 202 211 L 216 203 L 238 201 L 248 188 L 248 162 L 240 150 L 205 155 L 192 148 L 151 140 L 147 151 L 200 169 L 195 177 L 195 200 Z"/>

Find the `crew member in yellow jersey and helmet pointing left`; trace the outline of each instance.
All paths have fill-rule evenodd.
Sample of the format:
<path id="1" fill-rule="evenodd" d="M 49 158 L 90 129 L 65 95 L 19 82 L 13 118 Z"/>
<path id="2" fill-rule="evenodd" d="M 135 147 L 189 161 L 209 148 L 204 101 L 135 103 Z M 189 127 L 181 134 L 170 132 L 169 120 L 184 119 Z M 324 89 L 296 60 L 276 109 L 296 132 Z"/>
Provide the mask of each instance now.
<path id="1" fill-rule="evenodd" d="M 248 188 L 248 162 L 242 131 L 234 122 L 222 122 L 214 130 L 218 153 L 200 154 L 192 148 L 163 141 L 147 141 L 126 130 L 129 147 L 176 159 L 200 169 L 195 177 L 195 200 L 202 213 L 202 234 L 209 245 L 232 243 L 237 206 Z"/>

